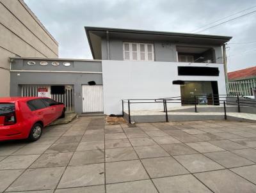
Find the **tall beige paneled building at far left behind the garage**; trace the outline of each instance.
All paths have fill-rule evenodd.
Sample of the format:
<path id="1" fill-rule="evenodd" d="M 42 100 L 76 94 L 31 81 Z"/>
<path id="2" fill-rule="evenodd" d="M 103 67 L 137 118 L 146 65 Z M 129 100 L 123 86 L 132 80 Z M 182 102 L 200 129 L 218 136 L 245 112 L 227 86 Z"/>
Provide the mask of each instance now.
<path id="1" fill-rule="evenodd" d="M 22 0 L 0 0 L 0 97 L 10 94 L 10 58 L 58 58 L 58 42 Z"/>

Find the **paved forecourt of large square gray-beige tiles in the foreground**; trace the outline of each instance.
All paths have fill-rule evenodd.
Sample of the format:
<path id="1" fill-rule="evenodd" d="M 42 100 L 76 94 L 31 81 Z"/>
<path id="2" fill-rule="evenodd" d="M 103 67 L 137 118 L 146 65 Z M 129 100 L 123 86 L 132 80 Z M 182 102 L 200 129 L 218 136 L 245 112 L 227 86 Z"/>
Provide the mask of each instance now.
<path id="1" fill-rule="evenodd" d="M 256 124 L 80 117 L 0 143 L 0 192 L 256 192 Z"/>

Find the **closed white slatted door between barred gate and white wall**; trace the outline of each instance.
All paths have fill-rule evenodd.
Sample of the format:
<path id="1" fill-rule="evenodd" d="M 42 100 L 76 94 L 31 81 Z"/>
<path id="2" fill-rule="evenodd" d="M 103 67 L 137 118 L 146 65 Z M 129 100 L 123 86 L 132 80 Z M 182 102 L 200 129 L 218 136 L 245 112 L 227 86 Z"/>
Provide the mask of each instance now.
<path id="1" fill-rule="evenodd" d="M 103 112 L 102 85 L 83 85 L 83 112 Z"/>

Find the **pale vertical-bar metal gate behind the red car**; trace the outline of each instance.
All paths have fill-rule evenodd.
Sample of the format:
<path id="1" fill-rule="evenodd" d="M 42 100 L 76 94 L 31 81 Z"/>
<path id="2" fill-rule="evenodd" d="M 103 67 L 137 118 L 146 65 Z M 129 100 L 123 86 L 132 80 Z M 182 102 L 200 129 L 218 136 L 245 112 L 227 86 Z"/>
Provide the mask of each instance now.
<path id="1" fill-rule="evenodd" d="M 38 96 L 38 88 L 47 88 L 51 93 L 49 85 L 21 85 L 21 96 Z M 71 85 L 65 86 L 65 94 L 52 95 L 49 97 L 58 102 L 63 102 L 66 107 L 66 112 L 74 112 L 74 87 Z"/>

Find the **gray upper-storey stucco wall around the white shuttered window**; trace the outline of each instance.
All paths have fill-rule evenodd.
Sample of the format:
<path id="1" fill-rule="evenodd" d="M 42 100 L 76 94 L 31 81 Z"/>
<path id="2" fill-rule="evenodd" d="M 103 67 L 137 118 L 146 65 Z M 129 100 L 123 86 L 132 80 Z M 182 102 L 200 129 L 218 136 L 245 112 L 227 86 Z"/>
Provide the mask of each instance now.
<path id="1" fill-rule="evenodd" d="M 215 52 L 216 63 L 223 63 L 222 59 L 222 49 L 221 46 L 213 45 L 195 45 L 195 44 L 186 44 L 186 43 L 172 43 L 172 42 L 147 42 L 147 41 L 138 41 L 138 40 L 120 40 L 120 39 L 110 39 L 109 40 L 109 56 L 110 60 L 124 60 L 123 58 L 123 42 L 145 42 L 145 43 L 154 43 L 154 52 L 155 52 L 155 61 L 163 62 L 176 62 L 177 61 L 177 49 L 178 45 L 184 46 L 195 46 L 195 47 L 209 47 L 212 48 Z M 107 41 L 102 39 L 102 60 L 108 60 L 107 53 Z"/>

